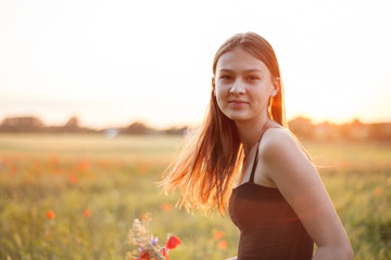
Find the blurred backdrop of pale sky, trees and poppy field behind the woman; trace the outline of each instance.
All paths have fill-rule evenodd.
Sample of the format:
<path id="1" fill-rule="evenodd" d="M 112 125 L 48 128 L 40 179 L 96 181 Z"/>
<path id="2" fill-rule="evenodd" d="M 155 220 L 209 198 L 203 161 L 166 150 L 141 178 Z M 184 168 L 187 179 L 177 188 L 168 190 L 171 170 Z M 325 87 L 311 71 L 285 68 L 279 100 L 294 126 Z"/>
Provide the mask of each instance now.
<path id="1" fill-rule="evenodd" d="M 124 259 L 133 219 L 172 259 L 236 255 L 229 218 L 175 208 L 161 180 L 200 125 L 237 32 L 274 47 L 290 129 L 355 259 L 391 258 L 389 1 L 0 0 L 0 258 Z"/>

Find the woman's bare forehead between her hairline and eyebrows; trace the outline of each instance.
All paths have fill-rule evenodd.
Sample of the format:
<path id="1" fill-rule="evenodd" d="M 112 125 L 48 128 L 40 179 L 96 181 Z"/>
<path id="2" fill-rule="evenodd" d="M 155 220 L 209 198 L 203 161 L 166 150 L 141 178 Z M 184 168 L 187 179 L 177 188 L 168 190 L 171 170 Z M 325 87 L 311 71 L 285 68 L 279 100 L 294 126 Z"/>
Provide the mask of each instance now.
<path id="1" fill-rule="evenodd" d="M 216 73 L 220 70 L 261 70 L 269 73 L 266 65 L 242 48 L 224 53 L 217 61 Z"/>

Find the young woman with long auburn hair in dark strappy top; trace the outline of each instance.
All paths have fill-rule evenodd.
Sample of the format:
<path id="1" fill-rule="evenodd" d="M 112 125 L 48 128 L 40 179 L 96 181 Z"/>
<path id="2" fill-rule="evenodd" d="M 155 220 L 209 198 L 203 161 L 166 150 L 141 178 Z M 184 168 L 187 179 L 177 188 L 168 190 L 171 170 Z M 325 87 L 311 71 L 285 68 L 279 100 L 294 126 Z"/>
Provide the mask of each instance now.
<path id="1" fill-rule="evenodd" d="M 232 259 L 352 259 L 319 176 L 288 130 L 272 46 L 254 32 L 236 35 L 218 49 L 213 75 L 203 125 L 164 188 L 180 186 L 188 208 L 224 213 L 228 205 L 241 232 Z"/>

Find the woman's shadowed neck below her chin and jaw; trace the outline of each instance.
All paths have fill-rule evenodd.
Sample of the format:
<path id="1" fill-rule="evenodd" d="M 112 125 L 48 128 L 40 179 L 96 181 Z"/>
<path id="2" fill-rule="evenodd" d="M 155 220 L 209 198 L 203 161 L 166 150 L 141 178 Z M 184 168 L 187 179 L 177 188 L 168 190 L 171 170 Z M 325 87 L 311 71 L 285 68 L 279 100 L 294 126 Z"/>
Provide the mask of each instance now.
<path id="1" fill-rule="evenodd" d="M 238 134 L 240 141 L 243 144 L 244 156 L 248 155 L 251 148 L 260 140 L 263 132 L 266 130 L 266 123 L 272 119 L 265 115 L 262 118 L 256 120 L 245 120 L 245 121 L 236 121 L 236 127 L 238 129 Z"/>

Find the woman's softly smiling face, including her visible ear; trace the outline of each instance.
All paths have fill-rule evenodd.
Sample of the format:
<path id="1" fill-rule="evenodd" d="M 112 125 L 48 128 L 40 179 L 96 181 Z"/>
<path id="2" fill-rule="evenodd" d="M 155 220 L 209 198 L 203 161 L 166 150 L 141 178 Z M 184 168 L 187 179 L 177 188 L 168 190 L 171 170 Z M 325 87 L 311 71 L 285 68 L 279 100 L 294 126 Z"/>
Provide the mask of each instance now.
<path id="1" fill-rule="evenodd" d="M 273 78 L 262 61 L 241 48 L 218 58 L 212 83 L 218 107 L 236 122 L 268 117 L 269 98 L 279 90 L 279 79 Z"/>

